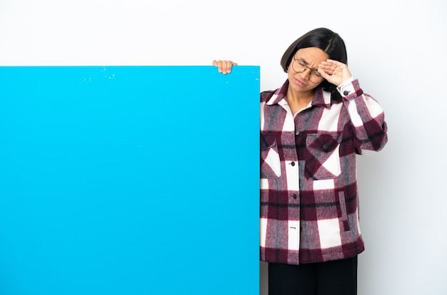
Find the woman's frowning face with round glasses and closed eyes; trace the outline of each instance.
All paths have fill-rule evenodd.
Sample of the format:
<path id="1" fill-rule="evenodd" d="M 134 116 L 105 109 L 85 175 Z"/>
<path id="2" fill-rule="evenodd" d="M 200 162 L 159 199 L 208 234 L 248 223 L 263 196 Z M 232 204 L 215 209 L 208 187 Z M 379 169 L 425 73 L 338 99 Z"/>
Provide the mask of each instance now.
<path id="1" fill-rule="evenodd" d="M 318 74 L 318 65 L 329 56 L 318 47 L 299 49 L 288 65 L 288 87 L 293 91 L 310 91 L 318 86 L 323 78 Z"/>

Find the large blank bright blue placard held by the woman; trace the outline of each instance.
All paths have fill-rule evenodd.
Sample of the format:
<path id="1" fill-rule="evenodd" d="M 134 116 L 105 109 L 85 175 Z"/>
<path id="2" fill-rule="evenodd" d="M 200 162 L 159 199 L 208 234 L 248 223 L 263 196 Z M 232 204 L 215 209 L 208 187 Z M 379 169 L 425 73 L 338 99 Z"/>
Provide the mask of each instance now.
<path id="1" fill-rule="evenodd" d="M 0 67 L 0 294 L 258 294 L 258 66 Z"/>

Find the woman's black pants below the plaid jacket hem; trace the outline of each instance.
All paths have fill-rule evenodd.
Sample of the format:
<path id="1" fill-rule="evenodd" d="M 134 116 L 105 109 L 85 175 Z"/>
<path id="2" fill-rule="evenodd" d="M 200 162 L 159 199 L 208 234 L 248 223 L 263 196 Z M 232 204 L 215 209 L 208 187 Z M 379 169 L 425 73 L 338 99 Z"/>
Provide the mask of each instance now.
<path id="1" fill-rule="evenodd" d="M 268 264 L 268 295 L 356 295 L 357 256 L 316 264 Z"/>

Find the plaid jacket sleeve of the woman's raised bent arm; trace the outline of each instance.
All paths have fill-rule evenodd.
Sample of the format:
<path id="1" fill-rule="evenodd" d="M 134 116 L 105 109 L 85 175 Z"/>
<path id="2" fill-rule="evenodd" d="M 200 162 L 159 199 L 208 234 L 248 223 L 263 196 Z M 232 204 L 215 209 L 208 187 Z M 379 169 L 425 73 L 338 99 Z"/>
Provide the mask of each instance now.
<path id="1" fill-rule="evenodd" d="M 388 141 L 383 109 L 372 96 L 364 94 L 357 79 L 337 87 L 351 118 L 357 154 L 371 154 L 383 149 Z"/>

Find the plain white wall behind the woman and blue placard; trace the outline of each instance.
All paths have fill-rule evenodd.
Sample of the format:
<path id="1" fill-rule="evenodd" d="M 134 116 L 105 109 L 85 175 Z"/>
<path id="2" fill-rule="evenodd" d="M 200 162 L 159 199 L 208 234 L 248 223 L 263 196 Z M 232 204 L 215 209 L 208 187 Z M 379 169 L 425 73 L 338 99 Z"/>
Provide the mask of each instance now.
<path id="1" fill-rule="evenodd" d="M 359 159 L 359 294 L 447 294 L 446 1 L 0 0 L 0 66 L 261 66 L 319 26 L 346 41 L 351 72 L 386 111 L 389 143 Z M 0 81 L 1 83 L 1 81 Z M 261 264 L 261 294 L 266 294 Z"/>

